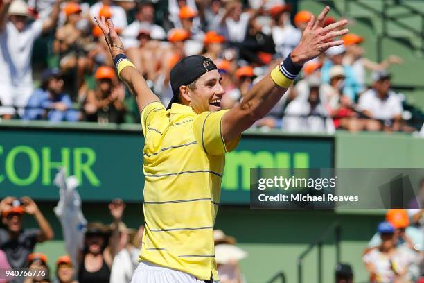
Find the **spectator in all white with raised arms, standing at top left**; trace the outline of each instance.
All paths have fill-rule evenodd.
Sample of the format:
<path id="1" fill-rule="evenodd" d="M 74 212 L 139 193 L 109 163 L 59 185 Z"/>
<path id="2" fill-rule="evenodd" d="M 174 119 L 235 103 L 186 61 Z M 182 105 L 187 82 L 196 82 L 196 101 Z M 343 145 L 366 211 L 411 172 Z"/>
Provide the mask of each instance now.
<path id="1" fill-rule="evenodd" d="M 10 119 L 15 107 L 22 108 L 33 93 L 31 55 L 34 41 L 55 27 L 60 12 L 58 0 L 46 19 L 28 22 L 28 5 L 23 0 L 3 0 L 0 4 L 0 117 Z M 22 115 L 24 110 L 19 110 Z"/>

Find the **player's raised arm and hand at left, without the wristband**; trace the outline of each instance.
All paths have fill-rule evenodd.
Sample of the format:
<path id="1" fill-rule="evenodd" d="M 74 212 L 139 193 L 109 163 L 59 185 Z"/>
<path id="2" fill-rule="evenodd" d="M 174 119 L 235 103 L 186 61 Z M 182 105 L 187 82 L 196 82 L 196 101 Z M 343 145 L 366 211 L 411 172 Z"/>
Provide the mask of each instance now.
<path id="1" fill-rule="evenodd" d="M 125 55 L 123 44 L 115 31 L 112 20 L 108 19 L 106 22 L 105 17 L 102 17 L 101 19 L 96 17 L 96 22 L 105 35 L 107 46 L 109 47 L 112 59 L 116 61 L 116 56 L 119 58 Z M 148 105 L 154 101 L 160 102 L 159 97 L 157 97 L 156 94 L 150 90 L 147 83 L 145 83 L 145 79 L 140 74 L 139 70 L 136 69 L 136 67 L 125 67 L 119 76 L 125 85 L 131 89 L 131 92 L 134 94 L 134 96 L 136 96 L 136 101 L 140 112 L 143 110 L 145 105 Z"/>

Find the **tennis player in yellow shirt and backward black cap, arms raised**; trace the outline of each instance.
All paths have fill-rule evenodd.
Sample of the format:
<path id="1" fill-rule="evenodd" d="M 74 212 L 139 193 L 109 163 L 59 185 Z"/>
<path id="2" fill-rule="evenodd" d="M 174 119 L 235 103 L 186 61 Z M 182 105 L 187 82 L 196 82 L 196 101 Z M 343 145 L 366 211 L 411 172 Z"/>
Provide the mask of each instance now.
<path id="1" fill-rule="evenodd" d="M 325 30 L 321 28 L 329 10 L 324 8 L 317 21 L 311 18 L 291 55 L 231 110 L 222 110 L 220 105 L 224 89 L 218 68 L 212 60 L 200 55 L 183 58 L 170 71 L 174 96 L 165 107 L 123 54 L 112 21 L 96 19 L 109 42 L 119 78 L 136 96 L 145 136 L 146 225 L 133 283 L 157 282 L 161 275 L 167 276 L 168 282 L 219 280 L 213 225 L 218 212 L 224 155 L 236 148 L 242 132 L 281 99 L 305 62 L 330 46 L 342 44 L 340 40 L 332 40 L 348 33 L 343 28 L 347 21 Z"/>

